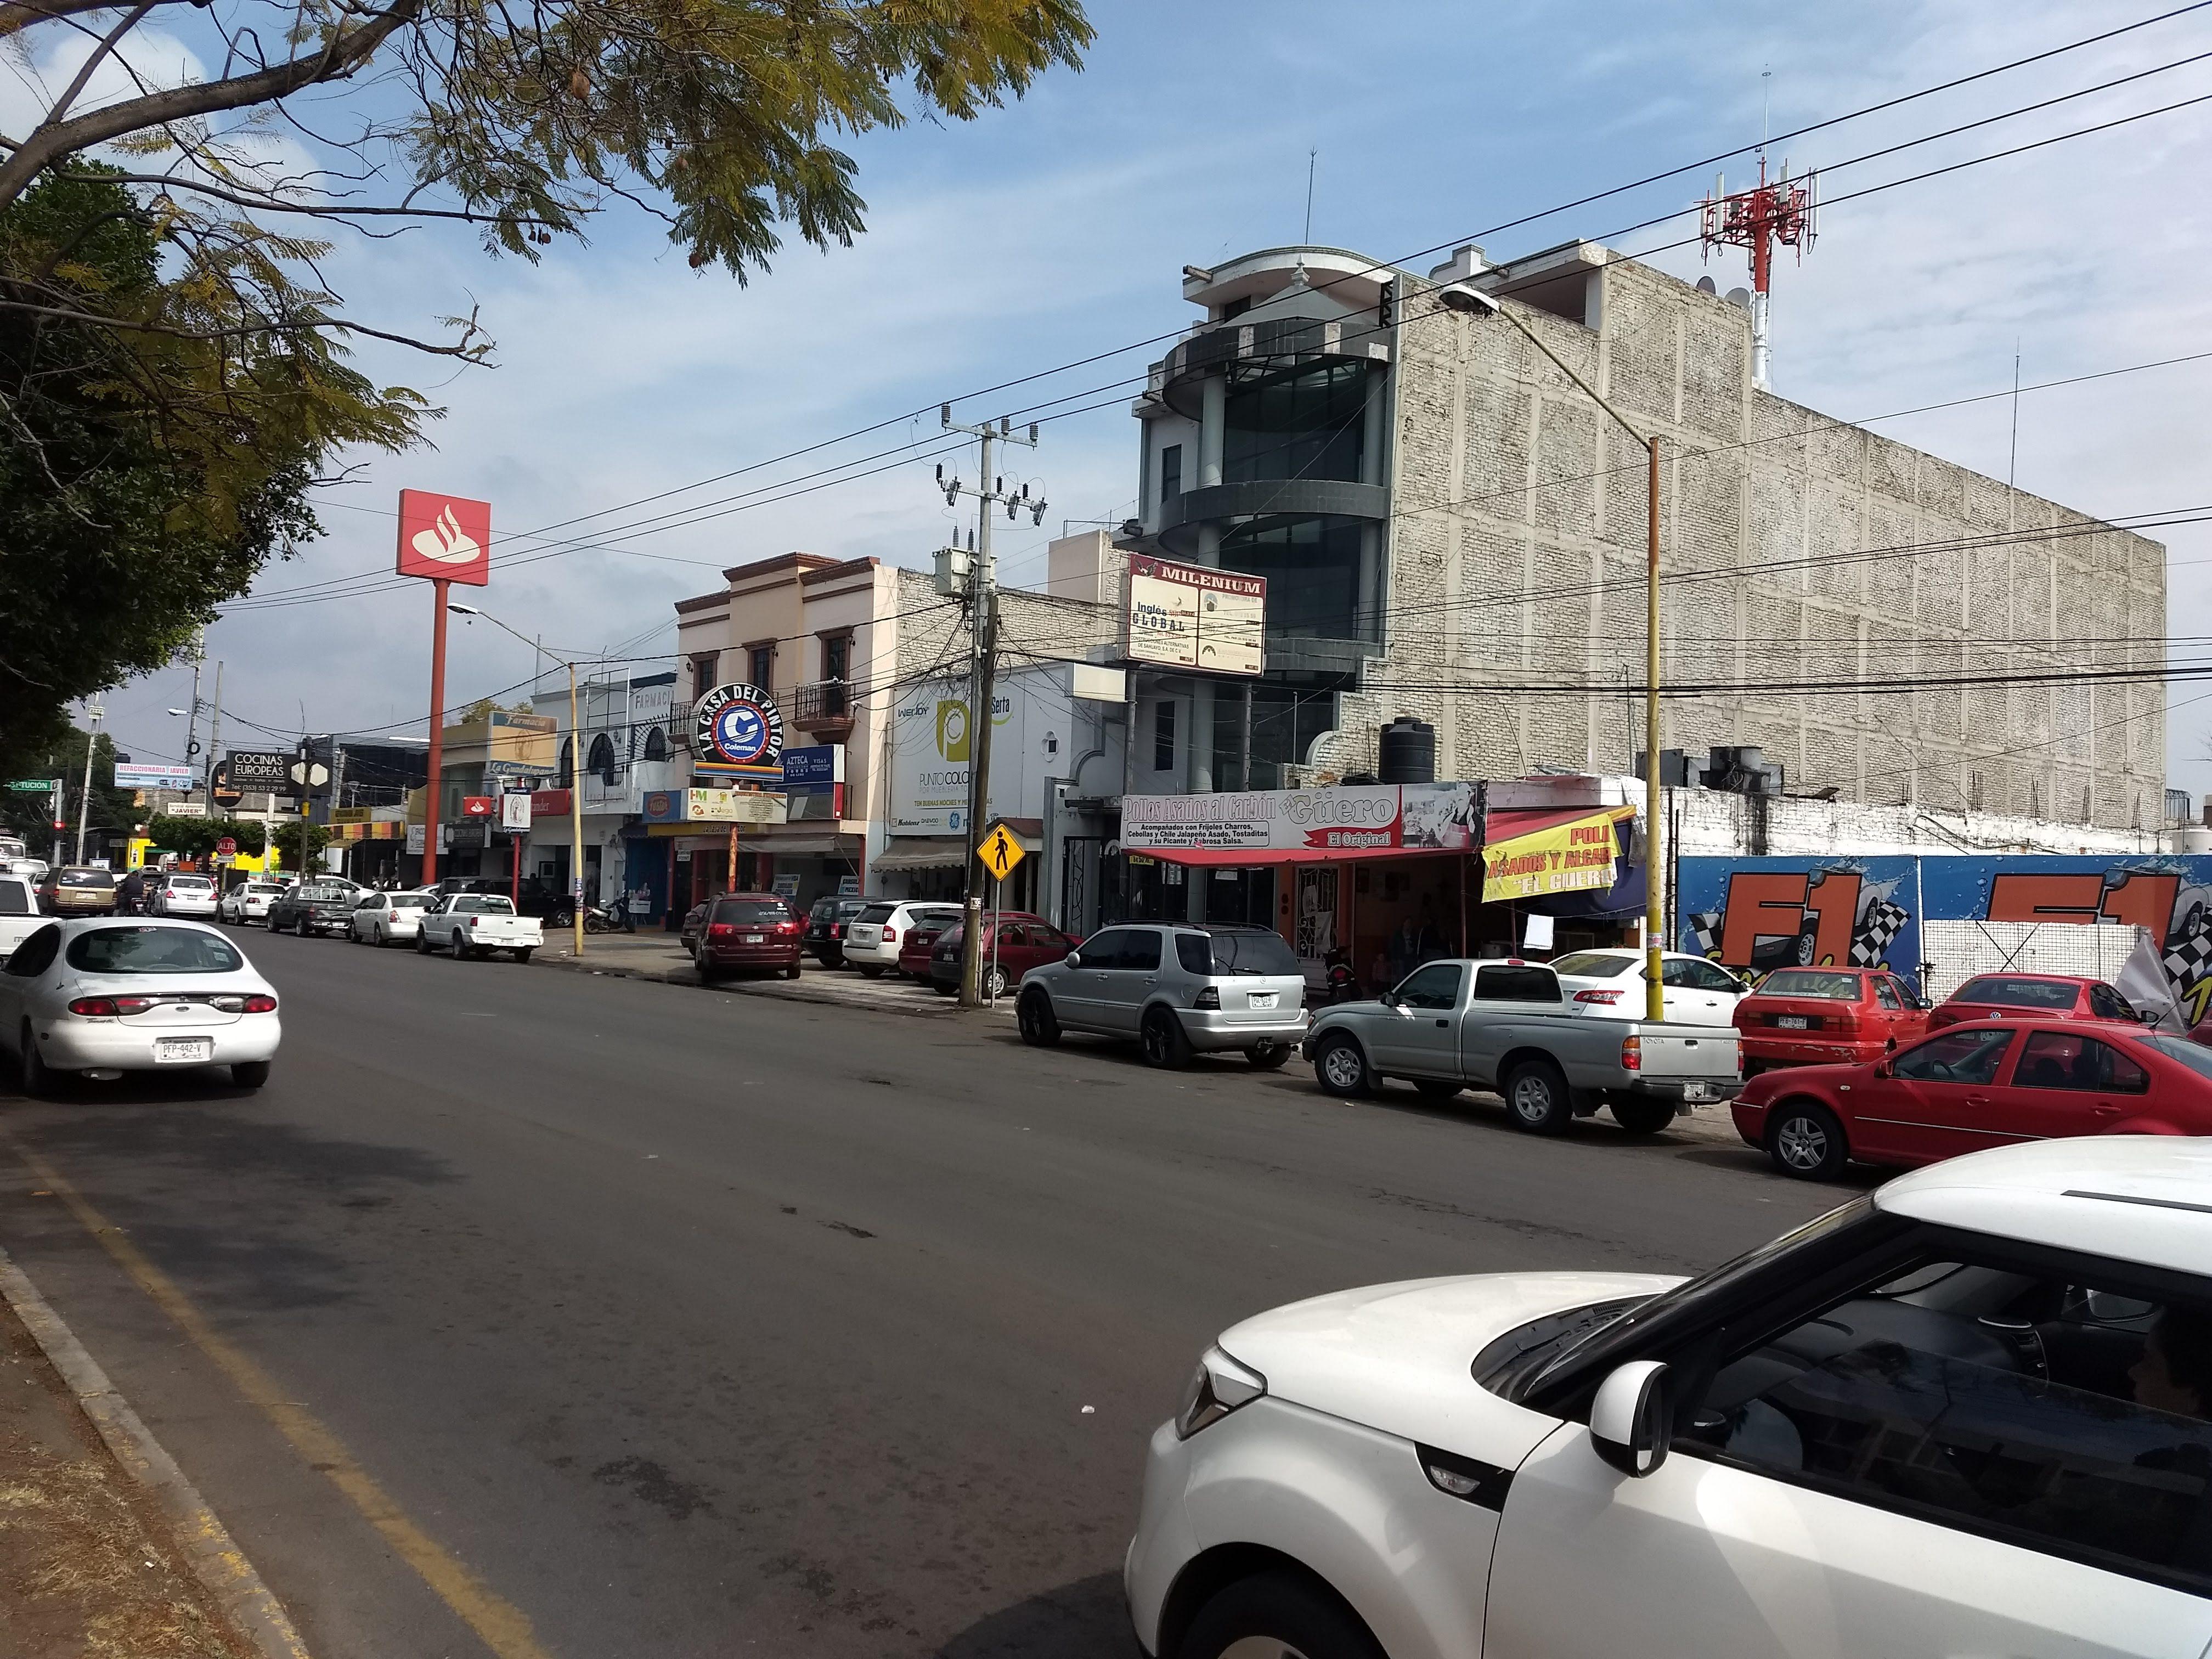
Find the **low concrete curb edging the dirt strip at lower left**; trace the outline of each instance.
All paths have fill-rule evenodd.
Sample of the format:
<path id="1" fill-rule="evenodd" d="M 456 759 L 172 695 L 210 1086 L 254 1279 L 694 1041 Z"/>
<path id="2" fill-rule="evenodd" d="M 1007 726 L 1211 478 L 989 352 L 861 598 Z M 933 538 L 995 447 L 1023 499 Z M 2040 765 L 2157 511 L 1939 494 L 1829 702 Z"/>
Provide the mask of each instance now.
<path id="1" fill-rule="evenodd" d="M 184 1478 L 177 1460 L 161 1449 L 137 1411 L 108 1383 L 108 1374 L 84 1352 L 84 1343 L 46 1305 L 46 1298 L 38 1294 L 38 1287 L 9 1259 L 7 1250 L 0 1250 L 0 1296 L 15 1310 L 15 1318 L 31 1332 L 31 1340 L 44 1352 L 49 1365 L 62 1374 L 62 1383 L 100 1429 L 115 1462 L 161 1504 L 161 1513 L 168 1515 L 177 1533 L 177 1546 L 230 1626 L 252 1644 L 261 1659 L 307 1659 L 307 1648 L 299 1639 L 299 1630 L 292 1628 L 283 1604 L 223 1531 L 215 1511 L 208 1509 L 208 1500 Z"/>

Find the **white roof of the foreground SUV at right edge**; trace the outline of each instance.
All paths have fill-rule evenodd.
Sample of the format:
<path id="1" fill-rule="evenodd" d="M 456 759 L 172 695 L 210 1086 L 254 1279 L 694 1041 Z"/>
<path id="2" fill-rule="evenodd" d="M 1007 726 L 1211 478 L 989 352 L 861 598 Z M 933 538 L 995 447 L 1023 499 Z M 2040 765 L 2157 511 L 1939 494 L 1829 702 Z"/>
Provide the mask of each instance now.
<path id="1" fill-rule="evenodd" d="M 2212 1272 L 2212 1139 L 2110 1135 L 2000 1146 L 1900 1175 L 1874 1201 L 1966 1232 Z"/>

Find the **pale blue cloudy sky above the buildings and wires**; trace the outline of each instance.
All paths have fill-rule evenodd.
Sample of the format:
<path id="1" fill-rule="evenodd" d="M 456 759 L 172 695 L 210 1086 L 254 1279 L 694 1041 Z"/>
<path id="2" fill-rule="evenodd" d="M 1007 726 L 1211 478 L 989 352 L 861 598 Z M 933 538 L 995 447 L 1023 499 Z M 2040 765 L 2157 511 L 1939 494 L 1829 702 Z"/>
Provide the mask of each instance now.
<path id="1" fill-rule="evenodd" d="M 916 122 L 854 142 L 867 234 L 827 254 L 787 248 L 750 285 L 692 272 L 639 215 L 597 221 L 588 248 L 555 246 L 540 265 L 487 259 L 467 234 L 440 230 L 343 246 L 334 272 L 356 314 L 409 327 L 480 305 L 498 367 L 453 374 L 438 361 L 363 352 L 372 374 L 418 385 L 449 409 L 436 449 L 365 458 L 358 480 L 327 495 L 325 540 L 272 566 L 257 591 L 389 568 L 403 484 L 489 498 L 502 535 L 562 524 L 1175 330 L 1190 321 L 1183 263 L 1298 237 L 1310 148 L 1318 150 L 1314 239 L 1400 259 L 1752 142 L 1767 86 L 1772 124 L 1787 131 L 2154 11 L 1980 0 L 1097 4 L 1099 42 L 1084 73 L 1055 73 L 973 124 Z M 1798 170 L 1836 168 L 1882 144 L 2205 51 L 2212 11 L 1776 155 Z M 2201 93 L 2212 93 L 2212 62 L 1832 170 L 1827 195 Z M 1860 418 L 2002 389 L 2015 343 L 2031 385 L 2212 352 L 2201 274 L 2212 230 L 2201 188 L 2212 161 L 2205 111 L 2212 104 L 1834 206 L 1818 250 L 1776 279 L 1776 392 Z M 1739 159 L 1728 173 L 1741 179 L 1750 168 Z M 1511 257 L 1577 234 L 1604 239 L 1690 204 L 1705 184 L 1677 177 L 1484 243 Z M 1637 252 L 1679 234 L 1668 226 L 1613 246 Z M 1657 263 L 1699 270 L 1694 250 Z M 1712 274 L 1723 288 L 1743 281 L 1741 263 L 1717 261 Z M 960 414 L 1073 396 L 1141 372 L 1157 352 L 962 403 Z M 2106 515 L 2199 504 L 2212 489 L 2201 460 L 2208 396 L 2212 363 L 2033 392 L 2020 400 L 2017 480 Z M 588 529 L 615 546 L 495 571 L 480 597 L 551 644 L 650 653 L 670 648 L 670 602 L 717 586 L 726 564 L 790 549 L 922 564 L 949 529 L 929 487 L 933 462 L 776 504 L 754 500 L 708 522 L 622 531 L 933 429 L 927 416 L 591 518 L 560 535 Z M 2008 465 L 2004 400 L 1880 429 L 2000 478 Z M 1042 577 L 1044 540 L 1062 520 L 1126 515 L 1133 458 L 1126 400 L 1051 422 L 1044 447 L 1022 458 L 1051 513 L 1042 531 L 1024 520 L 1002 542 L 1006 577 Z M 2212 538 L 2203 526 L 2166 535 L 2177 564 L 2168 635 L 2212 635 L 2205 566 L 2192 564 L 2212 560 Z M 524 546 L 507 542 L 502 553 Z M 208 657 L 226 661 L 230 712 L 279 730 L 420 721 L 427 622 L 420 584 L 241 608 L 210 630 Z M 526 648 L 482 624 L 456 626 L 456 703 L 529 672 Z M 170 670 L 108 697 L 126 750 L 139 759 L 181 750 L 184 723 L 161 710 L 181 703 L 186 681 Z M 2174 703 L 2199 697 L 2194 686 L 2174 690 Z M 2212 699 L 2177 708 L 2174 783 L 2212 787 L 2208 732 Z M 250 734 L 226 721 L 226 739 Z"/>

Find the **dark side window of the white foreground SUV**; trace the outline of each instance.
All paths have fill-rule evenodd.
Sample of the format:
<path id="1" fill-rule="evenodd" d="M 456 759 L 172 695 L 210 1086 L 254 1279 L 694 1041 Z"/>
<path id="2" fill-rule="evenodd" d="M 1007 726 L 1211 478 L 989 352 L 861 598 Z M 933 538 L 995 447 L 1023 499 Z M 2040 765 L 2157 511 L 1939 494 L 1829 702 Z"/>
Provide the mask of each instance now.
<path id="1" fill-rule="evenodd" d="M 1728 1358 L 1674 1444 L 2201 1595 L 2208 1418 L 2203 1307 L 1929 1261 Z"/>

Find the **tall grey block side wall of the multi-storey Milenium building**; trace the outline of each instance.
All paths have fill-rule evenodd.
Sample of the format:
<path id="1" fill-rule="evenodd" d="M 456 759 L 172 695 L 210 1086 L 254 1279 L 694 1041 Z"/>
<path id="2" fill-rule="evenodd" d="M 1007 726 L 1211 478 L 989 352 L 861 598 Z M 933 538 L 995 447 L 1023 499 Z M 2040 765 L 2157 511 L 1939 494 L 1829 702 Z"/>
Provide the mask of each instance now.
<path id="1" fill-rule="evenodd" d="M 2154 681 L 1986 684 L 2159 664 L 2157 542 L 1759 392 L 1739 307 L 1595 248 L 1564 259 L 1586 268 L 1595 327 L 1504 303 L 1666 438 L 1663 684 L 1969 681 L 1670 701 L 1668 745 L 1759 743 L 1792 792 L 2161 821 Z M 1511 325 L 1418 292 L 1402 312 L 1387 657 L 1316 772 L 1369 768 L 1394 714 L 1436 723 L 1447 776 L 1626 772 L 1641 699 L 1537 688 L 1641 684 L 1641 449 Z"/>

